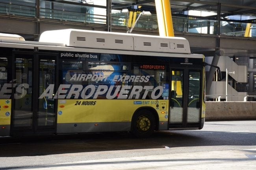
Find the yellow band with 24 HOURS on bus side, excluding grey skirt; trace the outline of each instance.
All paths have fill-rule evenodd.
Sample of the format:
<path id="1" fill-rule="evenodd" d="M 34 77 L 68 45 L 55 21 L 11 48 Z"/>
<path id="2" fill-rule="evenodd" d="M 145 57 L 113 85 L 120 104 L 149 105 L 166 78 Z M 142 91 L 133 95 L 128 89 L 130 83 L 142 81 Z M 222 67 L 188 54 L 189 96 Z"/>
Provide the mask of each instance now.
<path id="1" fill-rule="evenodd" d="M 168 100 L 59 99 L 57 123 L 130 122 L 140 107 L 152 107 L 160 121 L 167 121 Z"/>

